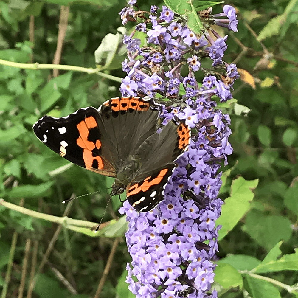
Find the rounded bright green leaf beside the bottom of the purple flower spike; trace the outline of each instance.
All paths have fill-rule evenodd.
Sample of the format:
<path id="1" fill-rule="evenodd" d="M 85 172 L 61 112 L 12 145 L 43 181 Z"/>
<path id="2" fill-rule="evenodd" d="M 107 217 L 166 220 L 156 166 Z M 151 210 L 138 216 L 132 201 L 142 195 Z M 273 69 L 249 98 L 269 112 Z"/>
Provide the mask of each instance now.
<path id="1" fill-rule="evenodd" d="M 242 284 L 241 274 L 230 264 L 218 264 L 214 273 L 214 281 L 219 283 L 224 289 L 235 288 Z"/>

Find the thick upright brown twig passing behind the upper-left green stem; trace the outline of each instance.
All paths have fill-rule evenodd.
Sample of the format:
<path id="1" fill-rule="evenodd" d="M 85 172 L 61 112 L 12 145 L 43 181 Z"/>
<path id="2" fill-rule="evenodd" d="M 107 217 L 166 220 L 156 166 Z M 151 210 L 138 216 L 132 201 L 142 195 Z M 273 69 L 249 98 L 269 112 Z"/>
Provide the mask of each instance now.
<path id="1" fill-rule="evenodd" d="M 66 29 L 67 29 L 68 15 L 69 15 L 69 6 L 61 5 L 57 48 L 56 48 L 56 52 L 54 55 L 53 64 L 60 64 L 63 41 L 65 38 Z M 53 76 L 58 77 L 58 69 L 53 70 Z"/>

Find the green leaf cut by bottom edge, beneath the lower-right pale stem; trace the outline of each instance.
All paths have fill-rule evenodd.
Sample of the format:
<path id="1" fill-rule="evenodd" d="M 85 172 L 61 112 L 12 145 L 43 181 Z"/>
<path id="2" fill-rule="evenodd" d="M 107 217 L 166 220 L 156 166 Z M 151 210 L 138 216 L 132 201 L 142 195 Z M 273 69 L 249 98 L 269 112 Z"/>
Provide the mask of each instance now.
<path id="1" fill-rule="evenodd" d="M 279 298 L 280 292 L 275 288 L 274 285 L 264 280 L 260 280 L 243 274 L 243 285 L 249 296 L 252 298 Z"/>

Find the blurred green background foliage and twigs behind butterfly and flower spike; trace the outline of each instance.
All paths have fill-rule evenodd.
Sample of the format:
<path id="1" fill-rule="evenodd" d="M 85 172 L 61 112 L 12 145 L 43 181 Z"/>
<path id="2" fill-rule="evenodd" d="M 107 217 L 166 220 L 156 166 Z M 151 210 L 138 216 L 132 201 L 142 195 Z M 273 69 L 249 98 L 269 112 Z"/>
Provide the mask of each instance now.
<path id="1" fill-rule="evenodd" d="M 234 85 L 237 104 L 232 101 L 227 105 L 232 113 L 230 142 L 234 153 L 229 156 L 232 169 L 224 176 L 221 197 L 229 197 L 232 180 L 239 176 L 246 181 L 258 179 L 253 200 L 252 196 L 244 200 L 243 193 L 235 191 L 234 207 L 223 210 L 231 222 L 241 214 L 236 225 L 229 226 L 227 219 L 221 221 L 223 235 L 229 233 L 219 241 L 217 254 L 219 260 L 229 260 L 231 255 L 242 258 L 238 265 L 235 257 L 226 261 L 234 262 L 238 273 L 257 266 L 272 248 L 271 256 L 291 254 L 298 264 L 296 2 L 225 2 L 238 9 L 239 32 L 229 34 L 224 60 L 237 63 L 241 79 Z M 150 4 L 161 7 L 163 3 Z M 149 9 L 147 1 L 138 1 L 138 5 Z M 95 68 L 94 51 L 106 34 L 116 34 L 122 26 L 118 12 L 124 6 L 122 0 L 0 1 L 0 59 Z M 222 8 L 217 5 L 213 11 L 221 12 Z M 224 30 L 222 33 L 228 34 Z M 124 77 L 120 66 L 116 61 L 113 69 L 103 73 Z M 96 226 L 109 197 L 106 188 L 111 180 L 69 166 L 38 141 L 32 124 L 44 114 L 60 117 L 80 107 L 98 107 L 110 97 L 119 96 L 118 88 L 119 81 L 88 74 L 87 70 L 57 72 L 0 65 L 0 197 L 33 211 L 67 215 Z M 254 188 L 256 182 L 246 185 Z M 61 203 L 74 194 L 97 190 L 72 201 L 66 209 Z M 240 206 L 243 202 L 245 207 Z M 120 205 L 118 198 L 113 198 L 104 222 L 119 217 Z M 1 297 L 133 297 L 124 283 L 130 256 L 123 221 L 118 225 L 112 221 L 110 230 L 94 237 L 86 229 L 75 228 L 77 222 L 71 222 L 72 228 L 68 229 L 61 218 L 56 222 L 63 224 L 57 225 L 7 207 L 11 206 L 0 204 Z M 219 268 L 229 276 L 230 267 Z M 285 286 L 268 285 L 272 280 L 295 285 L 297 270 L 293 265 L 263 271 L 270 280 L 257 285 L 263 289 L 260 292 L 253 290 L 257 279 L 237 279 L 232 273 L 231 282 L 225 284 L 218 278 L 216 286 L 221 297 L 242 297 L 243 291 L 251 297 L 293 297 Z M 35 274 L 38 278 L 33 280 Z"/>

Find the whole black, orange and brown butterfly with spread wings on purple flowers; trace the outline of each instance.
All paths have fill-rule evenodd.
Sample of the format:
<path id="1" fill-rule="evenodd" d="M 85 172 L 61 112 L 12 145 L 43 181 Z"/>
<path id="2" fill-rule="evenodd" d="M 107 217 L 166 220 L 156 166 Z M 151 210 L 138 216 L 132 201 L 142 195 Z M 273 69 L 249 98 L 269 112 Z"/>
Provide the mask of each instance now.
<path id="1" fill-rule="evenodd" d="M 160 106 L 139 97 L 117 97 L 98 110 L 44 116 L 33 125 L 38 139 L 87 170 L 115 177 L 111 195 L 123 193 L 137 211 L 164 199 L 174 161 L 190 143 L 190 128 L 171 120 L 160 132 Z"/>

